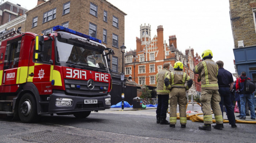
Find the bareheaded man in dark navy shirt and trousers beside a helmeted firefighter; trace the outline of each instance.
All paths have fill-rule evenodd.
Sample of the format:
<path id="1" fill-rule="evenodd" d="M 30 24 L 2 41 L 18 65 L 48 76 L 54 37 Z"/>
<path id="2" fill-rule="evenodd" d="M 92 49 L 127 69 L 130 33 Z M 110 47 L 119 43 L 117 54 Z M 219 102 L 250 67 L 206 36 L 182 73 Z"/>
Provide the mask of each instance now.
<path id="1" fill-rule="evenodd" d="M 222 61 L 216 62 L 218 65 L 218 85 L 219 85 L 219 94 L 221 96 L 221 102 L 219 105 L 221 107 L 222 117 L 223 117 L 223 105 L 227 109 L 227 119 L 229 120 L 229 124 L 232 128 L 236 128 L 236 118 L 234 115 L 234 109 L 232 107 L 230 91 L 232 91 L 234 80 L 232 74 L 223 68 L 224 63 Z M 222 126 L 223 127 L 223 126 Z M 214 126 L 214 128 L 222 129 L 218 124 Z"/>

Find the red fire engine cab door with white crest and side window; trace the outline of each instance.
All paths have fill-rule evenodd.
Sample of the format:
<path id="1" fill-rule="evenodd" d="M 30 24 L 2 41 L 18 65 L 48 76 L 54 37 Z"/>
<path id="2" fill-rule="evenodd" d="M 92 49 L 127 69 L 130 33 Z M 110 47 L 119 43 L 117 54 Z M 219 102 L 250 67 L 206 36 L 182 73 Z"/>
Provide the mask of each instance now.
<path id="1" fill-rule="evenodd" d="M 53 65 L 51 65 L 50 60 L 53 59 L 53 40 L 46 39 L 42 50 L 37 51 L 34 48 L 33 54 L 31 54 L 29 59 L 27 82 L 33 82 L 39 94 L 52 94 L 50 75 L 53 70 Z M 35 59 L 35 53 L 39 55 L 38 59 Z"/>

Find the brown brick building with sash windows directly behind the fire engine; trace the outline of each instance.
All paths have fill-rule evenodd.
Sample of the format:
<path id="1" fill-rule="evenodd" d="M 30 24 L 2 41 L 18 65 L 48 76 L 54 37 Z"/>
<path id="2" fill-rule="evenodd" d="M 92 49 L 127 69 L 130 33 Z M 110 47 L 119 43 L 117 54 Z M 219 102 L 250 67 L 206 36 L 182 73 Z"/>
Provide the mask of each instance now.
<path id="1" fill-rule="evenodd" d="M 103 45 L 114 50 L 111 56 L 113 73 L 122 70 L 120 46 L 124 43 L 124 16 L 127 15 L 106 0 L 38 0 L 27 11 L 25 31 L 52 33 L 60 25 L 101 39 Z"/>

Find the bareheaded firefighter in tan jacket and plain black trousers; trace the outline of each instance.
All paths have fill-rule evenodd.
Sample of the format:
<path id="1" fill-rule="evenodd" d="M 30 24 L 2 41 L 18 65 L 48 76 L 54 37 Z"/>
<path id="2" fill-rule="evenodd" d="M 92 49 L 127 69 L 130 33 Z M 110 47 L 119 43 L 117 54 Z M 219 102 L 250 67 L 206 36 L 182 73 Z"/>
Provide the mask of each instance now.
<path id="1" fill-rule="evenodd" d="M 168 109 L 168 100 L 170 90 L 165 86 L 165 77 L 170 73 L 169 71 L 170 63 L 164 63 L 163 69 L 157 73 L 157 123 L 160 124 L 170 124 L 166 120 L 166 111 Z"/>

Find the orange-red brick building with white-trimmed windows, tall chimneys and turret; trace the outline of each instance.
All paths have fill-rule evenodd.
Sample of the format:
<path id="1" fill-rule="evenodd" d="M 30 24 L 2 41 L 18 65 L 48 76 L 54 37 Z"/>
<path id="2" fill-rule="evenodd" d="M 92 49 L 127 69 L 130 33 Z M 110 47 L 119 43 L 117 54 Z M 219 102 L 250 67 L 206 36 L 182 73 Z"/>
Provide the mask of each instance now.
<path id="1" fill-rule="evenodd" d="M 193 81 L 195 75 L 194 50 L 188 49 L 185 54 L 177 49 L 176 35 L 169 36 L 169 44 L 163 40 L 163 27 L 157 27 L 157 35 L 151 39 L 151 26 L 140 26 L 140 38 L 136 37 L 136 50 L 125 53 L 125 77 L 132 77 L 139 85 L 156 86 L 156 74 L 162 70 L 163 63 L 170 63 L 170 70 L 174 70 L 174 63 L 181 61 L 183 71 L 189 74 Z M 196 94 L 195 82 L 189 94 Z"/>

